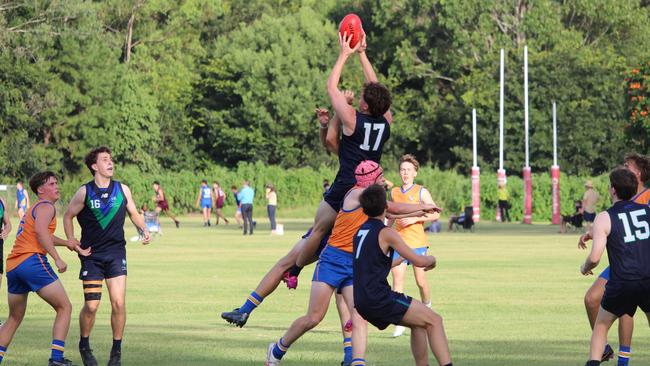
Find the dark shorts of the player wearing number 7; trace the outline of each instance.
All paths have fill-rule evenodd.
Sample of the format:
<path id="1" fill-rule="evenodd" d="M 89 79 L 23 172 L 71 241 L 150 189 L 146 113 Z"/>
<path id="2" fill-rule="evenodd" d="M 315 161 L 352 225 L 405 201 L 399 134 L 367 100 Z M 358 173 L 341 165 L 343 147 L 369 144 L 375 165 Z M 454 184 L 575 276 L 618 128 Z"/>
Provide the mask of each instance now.
<path id="1" fill-rule="evenodd" d="M 411 306 L 413 298 L 400 292 L 390 291 L 383 297 L 382 301 L 372 302 L 372 304 L 355 304 L 359 315 L 366 319 L 370 324 L 379 328 L 386 329 L 391 324 L 400 324 L 404 314 Z M 355 299 L 356 302 L 356 299 Z"/>

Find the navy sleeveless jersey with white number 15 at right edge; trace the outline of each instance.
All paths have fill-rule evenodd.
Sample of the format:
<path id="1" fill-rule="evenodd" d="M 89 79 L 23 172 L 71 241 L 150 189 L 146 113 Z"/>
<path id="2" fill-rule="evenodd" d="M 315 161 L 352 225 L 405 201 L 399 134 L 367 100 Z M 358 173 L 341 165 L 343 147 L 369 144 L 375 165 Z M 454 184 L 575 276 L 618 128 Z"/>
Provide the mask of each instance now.
<path id="1" fill-rule="evenodd" d="M 610 280 L 650 279 L 650 207 L 619 201 L 607 213 L 612 223 L 607 236 Z"/>

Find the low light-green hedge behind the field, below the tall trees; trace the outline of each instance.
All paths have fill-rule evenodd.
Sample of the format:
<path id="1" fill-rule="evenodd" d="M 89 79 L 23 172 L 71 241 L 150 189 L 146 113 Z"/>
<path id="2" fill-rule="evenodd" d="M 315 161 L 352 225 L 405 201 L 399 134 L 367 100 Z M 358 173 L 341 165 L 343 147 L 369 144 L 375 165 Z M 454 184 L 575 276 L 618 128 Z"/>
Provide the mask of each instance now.
<path id="1" fill-rule="evenodd" d="M 239 164 L 235 169 L 226 169 L 212 166 L 201 170 L 199 173 L 176 172 L 158 174 L 143 174 L 137 168 L 129 167 L 117 170 L 117 179 L 128 184 L 138 204 L 151 205 L 153 190 L 151 183 L 160 181 L 168 197 L 173 211 L 178 213 L 195 210 L 196 199 L 199 192 L 199 181 L 207 179 L 209 182 L 218 181 L 227 194 L 226 212 L 234 211 L 234 198 L 230 193 L 230 186 L 241 186 L 244 179 L 251 182 L 255 189 L 255 209 L 257 214 L 266 215 L 266 199 L 264 186 L 272 183 L 278 193 L 278 207 L 280 216 L 304 217 L 315 212 L 315 207 L 322 198 L 323 179 L 333 180 L 336 171 L 328 167 L 319 169 L 296 168 L 285 170 L 279 166 L 265 166 L 262 163 Z M 399 184 L 400 178 L 396 169 L 387 168 L 386 178 Z M 89 174 L 75 176 L 66 180 L 62 185 L 62 202 L 68 202 L 74 192 L 85 181 L 90 179 Z M 482 172 L 481 174 L 481 217 L 493 220 L 496 213 L 497 184 L 496 173 Z M 560 179 L 560 202 L 562 213 L 573 212 L 573 200 L 582 199 L 585 178 L 575 176 L 562 176 Z M 607 196 L 608 180 L 605 175 L 593 179 L 595 189 L 600 193 L 600 208 L 608 207 L 610 201 Z M 458 213 L 466 205 L 471 205 L 470 178 L 453 171 L 441 171 L 437 168 L 423 167 L 416 178 L 416 183 L 422 184 L 429 191 L 436 203 L 444 209 L 443 216 Z M 510 213 L 513 221 L 523 219 L 523 181 L 517 176 L 508 177 L 508 192 L 512 210 Z M 9 201 L 13 204 L 13 197 Z M 305 211 L 306 210 L 306 211 Z M 533 174 L 533 219 L 536 221 L 549 221 L 551 219 L 551 178 L 547 173 Z"/>

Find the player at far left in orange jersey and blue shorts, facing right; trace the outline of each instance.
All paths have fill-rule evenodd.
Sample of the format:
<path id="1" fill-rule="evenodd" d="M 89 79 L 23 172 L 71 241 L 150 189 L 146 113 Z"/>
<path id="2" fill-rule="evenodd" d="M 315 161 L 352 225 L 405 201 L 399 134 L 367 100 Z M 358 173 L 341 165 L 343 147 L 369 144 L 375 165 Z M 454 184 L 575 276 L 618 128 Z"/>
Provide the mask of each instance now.
<path id="1" fill-rule="evenodd" d="M 55 248 L 55 246 L 70 244 L 54 235 L 56 230 L 54 203 L 60 197 L 56 176 L 52 172 L 38 173 L 29 180 L 29 187 L 38 196 L 39 201 L 21 220 L 16 241 L 7 256 L 9 317 L 0 327 L 0 363 L 25 317 L 27 297 L 33 291 L 56 311 L 48 365 L 70 366 L 72 362 L 64 358 L 63 353 L 65 338 L 70 329 L 72 304 L 46 256 L 49 254 L 54 259 L 59 273 L 65 272 L 68 268 Z M 68 248 L 76 250 L 79 255 L 90 254 L 90 248 L 83 250 L 79 245 L 74 244 Z"/>

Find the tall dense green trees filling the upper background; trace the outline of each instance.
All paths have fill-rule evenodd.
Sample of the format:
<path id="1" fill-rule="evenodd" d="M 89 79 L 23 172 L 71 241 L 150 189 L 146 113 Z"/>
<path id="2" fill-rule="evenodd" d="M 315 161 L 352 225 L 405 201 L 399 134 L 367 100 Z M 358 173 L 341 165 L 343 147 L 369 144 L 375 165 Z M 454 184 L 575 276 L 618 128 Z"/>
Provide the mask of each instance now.
<path id="1" fill-rule="evenodd" d="M 519 171 L 525 45 L 533 171 L 551 162 L 553 100 L 567 173 L 600 174 L 648 146 L 647 133 L 625 133 L 623 82 L 650 60 L 647 1 L 8 0 L 0 176 L 78 174 L 98 144 L 148 173 L 241 161 L 333 166 L 312 112 L 328 105 L 336 25 L 347 12 L 363 19 L 369 57 L 394 94 L 389 159 L 411 152 L 466 172 L 477 108 L 480 166 L 494 170 L 504 48 L 505 167 Z M 351 60 L 343 86 L 359 91 L 362 79 Z"/>

